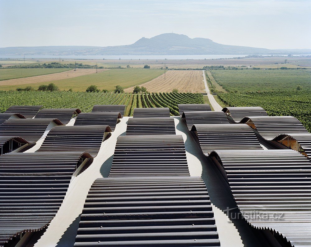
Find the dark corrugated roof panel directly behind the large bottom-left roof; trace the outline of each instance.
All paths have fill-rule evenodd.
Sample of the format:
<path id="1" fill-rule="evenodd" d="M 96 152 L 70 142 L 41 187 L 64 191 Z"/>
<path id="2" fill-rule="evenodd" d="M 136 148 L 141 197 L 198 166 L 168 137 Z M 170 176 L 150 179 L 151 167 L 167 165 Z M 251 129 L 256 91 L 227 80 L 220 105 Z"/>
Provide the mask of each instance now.
<path id="1" fill-rule="evenodd" d="M 89 152 L 95 157 L 109 126 L 56 126 L 49 131 L 37 152 Z"/>

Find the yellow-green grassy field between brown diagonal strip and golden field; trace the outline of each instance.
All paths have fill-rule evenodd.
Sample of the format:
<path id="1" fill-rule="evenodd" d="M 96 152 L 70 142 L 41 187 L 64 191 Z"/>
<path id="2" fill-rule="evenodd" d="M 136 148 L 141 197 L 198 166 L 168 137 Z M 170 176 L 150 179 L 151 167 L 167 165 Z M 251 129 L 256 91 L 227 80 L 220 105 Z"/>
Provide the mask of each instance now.
<path id="1" fill-rule="evenodd" d="M 83 69 L 88 70 L 88 69 Z M 58 86 L 60 90 L 85 91 L 90 85 L 96 85 L 100 90 L 114 90 L 116 85 L 121 85 L 124 88 L 139 85 L 148 82 L 155 77 L 164 73 L 164 70 L 157 69 L 110 69 L 100 73 L 93 73 L 89 75 L 82 75 L 78 77 L 66 78 L 61 80 L 53 80 L 53 83 Z M 35 89 L 44 82 L 35 82 L 19 85 L 1 86 L 2 90 L 14 90 L 17 87 L 32 86 Z"/>

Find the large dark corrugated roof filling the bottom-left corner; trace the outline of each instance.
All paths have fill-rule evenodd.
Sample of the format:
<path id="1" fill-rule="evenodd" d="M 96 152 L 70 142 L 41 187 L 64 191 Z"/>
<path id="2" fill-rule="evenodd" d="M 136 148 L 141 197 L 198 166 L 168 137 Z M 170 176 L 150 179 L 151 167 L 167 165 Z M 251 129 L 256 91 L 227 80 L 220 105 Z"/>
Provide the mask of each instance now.
<path id="1" fill-rule="evenodd" d="M 46 227 L 87 153 L 9 153 L 0 157 L 0 246 Z"/>

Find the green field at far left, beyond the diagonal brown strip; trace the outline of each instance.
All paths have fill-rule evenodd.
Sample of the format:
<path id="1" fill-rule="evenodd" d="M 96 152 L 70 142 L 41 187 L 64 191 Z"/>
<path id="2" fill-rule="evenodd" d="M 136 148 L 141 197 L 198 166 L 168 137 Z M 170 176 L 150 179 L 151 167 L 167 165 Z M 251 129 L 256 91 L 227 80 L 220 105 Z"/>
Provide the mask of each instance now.
<path id="1" fill-rule="evenodd" d="M 69 70 L 68 68 L 6 68 L 0 69 L 0 81 L 47 75 Z M 29 86 L 29 85 L 28 85 Z M 16 86 L 19 87 L 19 86 Z"/>

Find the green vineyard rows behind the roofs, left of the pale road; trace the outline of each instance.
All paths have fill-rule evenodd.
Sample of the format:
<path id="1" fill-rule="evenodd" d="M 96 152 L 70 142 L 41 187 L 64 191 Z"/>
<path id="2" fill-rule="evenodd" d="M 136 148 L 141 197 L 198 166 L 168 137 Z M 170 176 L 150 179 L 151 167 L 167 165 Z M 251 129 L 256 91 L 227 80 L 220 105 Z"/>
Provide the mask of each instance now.
<path id="1" fill-rule="evenodd" d="M 124 104 L 132 116 L 134 108 L 169 107 L 170 113 L 179 116 L 178 104 L 203 104 L 200 93 L 112 94 L 87 92 L 0 91 L 0 112 L 12 105 L 43 105 L 43 108 L 79 108 L 91 112 L 95 104 Z"/>

